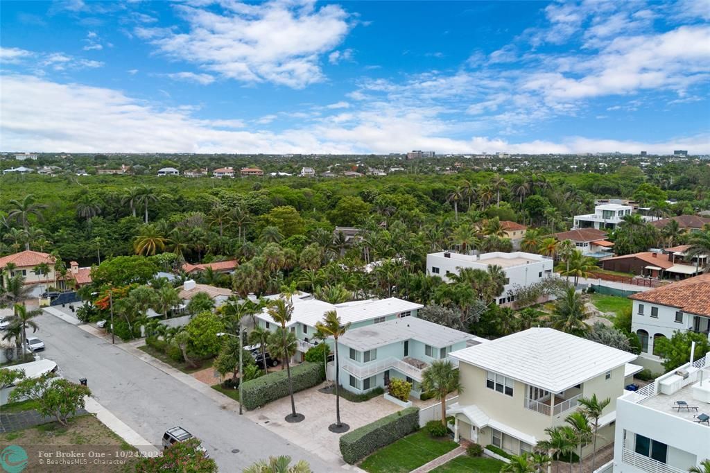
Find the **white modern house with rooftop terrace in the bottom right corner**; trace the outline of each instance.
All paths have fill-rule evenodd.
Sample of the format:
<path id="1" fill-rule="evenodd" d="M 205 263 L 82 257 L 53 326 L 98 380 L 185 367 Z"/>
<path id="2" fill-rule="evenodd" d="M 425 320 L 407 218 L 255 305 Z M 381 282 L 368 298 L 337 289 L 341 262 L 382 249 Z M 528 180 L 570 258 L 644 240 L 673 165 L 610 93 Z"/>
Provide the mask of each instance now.
<path id="1" fill-rule="evenodd" d="M 613 463 L 603 471 L 687 473 L 699 467 L 710 459 L 709 416 L 707 354 L 616 400 Z"/>

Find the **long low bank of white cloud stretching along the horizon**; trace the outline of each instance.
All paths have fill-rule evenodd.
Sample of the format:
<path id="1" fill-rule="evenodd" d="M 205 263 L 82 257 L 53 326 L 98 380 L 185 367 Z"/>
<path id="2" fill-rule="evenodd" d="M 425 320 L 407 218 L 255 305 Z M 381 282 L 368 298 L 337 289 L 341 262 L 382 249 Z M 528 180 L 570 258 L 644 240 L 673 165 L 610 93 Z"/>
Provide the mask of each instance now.
<path id="1" fill-rule="evenodd" d="M 99 87 L 0 77 L 3 114 L 0 134 L 6 149 L 70 152 L 225 152 L 231 153 L 391 153 L 410 148 L 439 153 L 579 153 L 595 151 L 670 153 L 692 149 L 710 153 L 707 134 L 659 143 L 560 137 L 558 142 L 513 143 L 469 135 L 447 137 L 452 127 L 429 109 L 368 104 L 346 114 L 304 121 L 302 126 L 271 131 L 241 129 L 240 119 L 204 120 L 193 107 L 164 109 Z M 42 114 L 33 113 L 41 109 Z M 266 117 L 263 117 L 266 118 Z"/>

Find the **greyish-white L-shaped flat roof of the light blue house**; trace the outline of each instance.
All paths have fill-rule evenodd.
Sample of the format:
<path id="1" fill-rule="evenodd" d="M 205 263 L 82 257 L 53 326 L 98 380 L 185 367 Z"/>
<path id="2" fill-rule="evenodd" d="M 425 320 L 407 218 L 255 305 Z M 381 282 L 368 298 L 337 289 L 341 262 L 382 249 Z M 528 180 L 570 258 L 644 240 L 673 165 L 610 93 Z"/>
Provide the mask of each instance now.
<path id="1" fill-rule="evenodd" d="M 444 325 L 417 317 L 403 317 L 348 330 L 338 341 L 346 347 L 362 352 L 409 339 L 442 348 L 465 342 L 469 338 L 471 338 L 470 334 L 460 330 L 444 327 Z"/>

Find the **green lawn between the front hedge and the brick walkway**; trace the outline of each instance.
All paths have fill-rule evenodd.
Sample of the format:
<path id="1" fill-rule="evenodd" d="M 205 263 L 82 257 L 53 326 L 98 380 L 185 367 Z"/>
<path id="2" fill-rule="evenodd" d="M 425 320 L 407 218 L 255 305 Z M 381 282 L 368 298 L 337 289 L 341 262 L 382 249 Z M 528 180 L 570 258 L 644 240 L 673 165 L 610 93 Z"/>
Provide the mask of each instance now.
<path id="1" fill-rule="evenodd" d="M 374 452 L 360 467 L 370 473 L 411 472 L 458 446 L 448 437 L 439 440 L 430 437 L 425 430 L 419 430 Z"/>

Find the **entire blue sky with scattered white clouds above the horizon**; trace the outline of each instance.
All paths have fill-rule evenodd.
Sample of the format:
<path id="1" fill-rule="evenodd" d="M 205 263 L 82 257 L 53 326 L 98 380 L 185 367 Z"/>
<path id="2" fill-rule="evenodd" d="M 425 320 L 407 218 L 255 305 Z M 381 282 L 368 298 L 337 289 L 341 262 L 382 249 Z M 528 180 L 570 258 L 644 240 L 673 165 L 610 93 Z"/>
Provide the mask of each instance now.
<path id="1" fill-rule="evenodd" d="M 4 151 L 710 153 L 710 0 L 1 9 Z"/>

